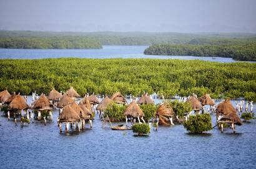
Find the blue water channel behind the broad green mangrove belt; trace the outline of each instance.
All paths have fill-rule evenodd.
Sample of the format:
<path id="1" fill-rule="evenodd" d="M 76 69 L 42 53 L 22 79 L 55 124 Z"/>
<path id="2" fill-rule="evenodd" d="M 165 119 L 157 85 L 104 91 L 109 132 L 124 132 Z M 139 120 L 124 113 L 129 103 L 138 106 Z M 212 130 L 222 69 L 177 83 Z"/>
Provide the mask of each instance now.
<path id="1" fill-rule="evenodd" d="M 82 58 L 151 58 L 151 59 L 184 59 L 209 60 L 214 62 L 235 62 L 227 57 L 195 56 L 151 56 L 144 55 L 147 46 L 103 46 L 102 49 L 0 49 L 1 59 L 42 59 L 58 57 Z"/>

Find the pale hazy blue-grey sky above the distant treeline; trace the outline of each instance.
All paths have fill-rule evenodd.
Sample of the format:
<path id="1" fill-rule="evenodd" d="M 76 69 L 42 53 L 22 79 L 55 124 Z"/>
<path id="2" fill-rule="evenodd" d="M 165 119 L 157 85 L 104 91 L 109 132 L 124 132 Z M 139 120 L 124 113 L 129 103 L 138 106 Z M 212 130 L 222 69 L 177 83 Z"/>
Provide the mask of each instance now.
<path id="1" fill-rule="evenodd" d="M 0 0 L 0 29 L 256 32 L 256 0 Z"/>

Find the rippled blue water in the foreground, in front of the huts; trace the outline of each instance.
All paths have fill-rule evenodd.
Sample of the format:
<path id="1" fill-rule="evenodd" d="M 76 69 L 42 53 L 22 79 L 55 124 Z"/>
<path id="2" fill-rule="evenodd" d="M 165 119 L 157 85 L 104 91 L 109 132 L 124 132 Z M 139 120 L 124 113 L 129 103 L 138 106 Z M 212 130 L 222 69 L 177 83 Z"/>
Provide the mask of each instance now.
<path id="1" fill-rule="evenodd" d="M 87 124 L 83 132 L 60 134 L 58 112 L 53 115 L 46 126 L 23 128 L 0 117 L 0 168 L 255 168 L 255 120 L 237 126 L 236 134 L 214 128 L 189 135 L 175 125 L 134 137 L 131 130 L 102 129 L 97 114 L 92 129 Z"/>

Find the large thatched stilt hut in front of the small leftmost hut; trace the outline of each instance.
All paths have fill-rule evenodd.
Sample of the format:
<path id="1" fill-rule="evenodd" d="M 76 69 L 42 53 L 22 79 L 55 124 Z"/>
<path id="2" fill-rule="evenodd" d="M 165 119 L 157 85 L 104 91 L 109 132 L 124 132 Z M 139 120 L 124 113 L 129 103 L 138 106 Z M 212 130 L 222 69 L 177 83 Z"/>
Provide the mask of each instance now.
<path id="1" fill-rule="evenodd" d="M 27 118 L 27 109 L 29 109 L 29 106 L 27 105 L 24 97 L 19 94 L 16 95 L 9 104 L 8 119 L 10 118 L 11 112 L 14 117 L 14 122 L 17 125 L 17 116 L 21 115 L 21 127 L 23 127 L 24 122 L 29 123 L 29 117 Z"/>

